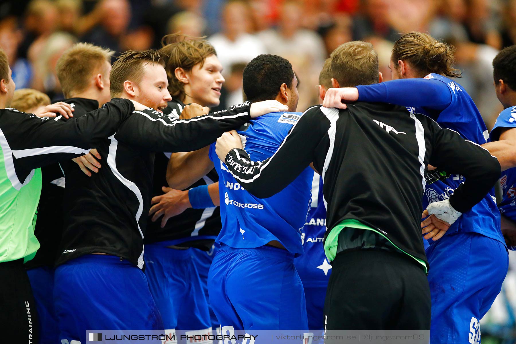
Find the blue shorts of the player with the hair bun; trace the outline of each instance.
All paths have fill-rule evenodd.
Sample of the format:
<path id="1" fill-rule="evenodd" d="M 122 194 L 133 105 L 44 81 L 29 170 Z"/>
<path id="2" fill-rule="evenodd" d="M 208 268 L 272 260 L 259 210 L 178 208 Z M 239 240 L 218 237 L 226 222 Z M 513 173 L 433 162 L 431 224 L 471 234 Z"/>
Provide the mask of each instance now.
<path id="1" fill-rule="evenodd" d="M 432 297 L 430 342 L 480 343 L 480 319 L 502 288 L 509 258 L 478 233 L 445 235 L 426 250 Z"/>

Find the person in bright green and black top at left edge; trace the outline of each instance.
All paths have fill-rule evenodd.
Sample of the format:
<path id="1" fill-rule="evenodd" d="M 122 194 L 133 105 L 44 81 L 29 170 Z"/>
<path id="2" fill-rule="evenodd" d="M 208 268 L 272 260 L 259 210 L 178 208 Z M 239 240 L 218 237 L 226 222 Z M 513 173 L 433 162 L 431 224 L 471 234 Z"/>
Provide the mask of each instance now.
<path id="1" fill-rule="evenodd" d="M 11 74 L 0 49 L 0 275 L 6 281 L 0 285 L 0 324 L 8 329 L 8 342 L 39 342 L 38 312 L 23 264 L 40 247 L 34 235 L 40 167 L 87 153 L 130 113 L 103 109 L 67 123 L 38 118 L 9 108 L 16 87 Z M 66 114 L 65 108 L 72 112 L 68 104 L 55 111 Z"/>

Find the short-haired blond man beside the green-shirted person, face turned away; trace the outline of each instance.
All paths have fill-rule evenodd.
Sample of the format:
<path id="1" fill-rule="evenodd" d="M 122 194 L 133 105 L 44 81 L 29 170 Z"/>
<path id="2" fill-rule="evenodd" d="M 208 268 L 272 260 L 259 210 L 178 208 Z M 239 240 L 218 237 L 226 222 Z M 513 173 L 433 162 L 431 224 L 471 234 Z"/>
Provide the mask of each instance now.
<path id="1" fill-rule="evenodd" d="M 110 100 L 109 71 L 110 58 L 113 52 L 92 45 L 77 43 L 68 48 L 57 60 L 56 72 L 66 100 L 61 102 L 74 109 L 74 117 L 80 118 L 87 112 L 98 109 Z M 20 90 L 24 95 L 18 103 L 32 106 L 31 100 L 46 96 L 34 90 Z M 66 121 L 67 118 L 58 116 L 56 120 Z M 91 171 L 98 172 L 100 159 L 96 150 L 82 157 L 63 160 L 42 168 L 43 184 L 38 209 L 38 222 L 35 235 L 41 244 L 34 259 L 25 264 L 34 297 L 40 314 L 42 342 L 59 342 L 57 316 L 53 306 L 54 265 L 59 255 L 63 220 L 68 206 L 78 197 L 78 185 L 84 183 L 84 173 L 91 176 Z M 66 177 L 66 183 L 65 183 Z M 67 187 L 65 188 L 65 185 Z M 62 206 L 56 206 L 59 204 Z M 64 207 L 64 208 L 63 208 Z"/>

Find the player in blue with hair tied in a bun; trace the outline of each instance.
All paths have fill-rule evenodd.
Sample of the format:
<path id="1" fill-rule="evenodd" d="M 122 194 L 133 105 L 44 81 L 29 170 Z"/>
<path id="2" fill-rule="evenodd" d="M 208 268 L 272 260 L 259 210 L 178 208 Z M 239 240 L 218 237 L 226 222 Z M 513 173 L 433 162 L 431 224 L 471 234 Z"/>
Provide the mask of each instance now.
<path id="1" fill-rule="evenodd" d="M 341 101 L 385 102 L 423 113 L 441 127 L 453 129 L 466 140 L 485 144 L 486 125 L 471 97 L 456 81 L 453 47 L 427 34 L 410 32 L 394 44 L 390 69 L 395 80 L 356 88 L 331 89 L 324 105 L 345 107 Z M 439 167 L 438 167 L 439 168 Z M 481 166 L 479 166 L 481 168 Z M 423 208 L 448 200 L 464 181 L 445 171 L 428 184 Z M 430 179 L 433 179 L 430 177 Z M 500 230 L 494 191 L 451 226 L 422 222 L 430 244 L 428 282 L 432 298 L 432 343 L 479 343 L 480 319 L 501 290 L 508 268 L 507 247 Z"/>

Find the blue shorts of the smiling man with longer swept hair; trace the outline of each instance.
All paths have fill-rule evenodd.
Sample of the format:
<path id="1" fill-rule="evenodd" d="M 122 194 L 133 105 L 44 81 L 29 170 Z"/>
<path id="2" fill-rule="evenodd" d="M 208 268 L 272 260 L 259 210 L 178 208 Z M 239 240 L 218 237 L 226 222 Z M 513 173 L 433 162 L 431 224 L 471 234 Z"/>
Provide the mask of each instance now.
<path id="1" fill-rule="evenodd" d="M 145 275 L 167 331 L 208 330 L 212 326 L 193 250 L 145 245 Z"/>

